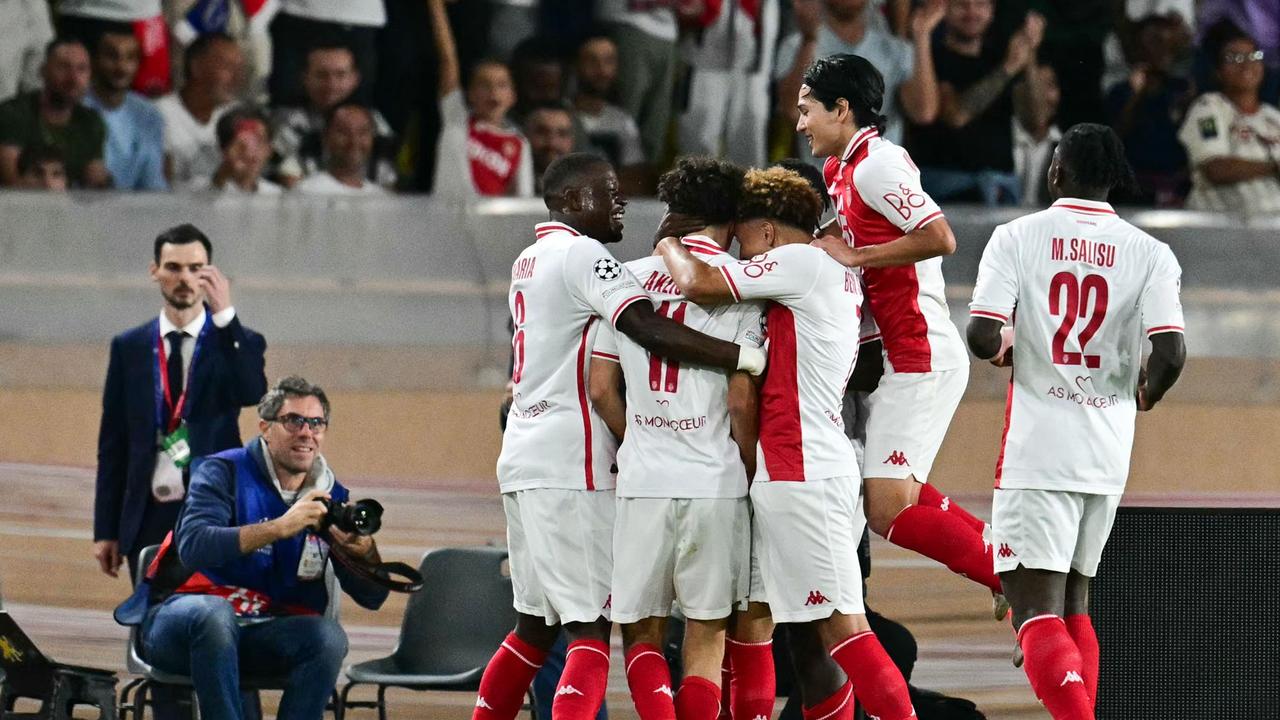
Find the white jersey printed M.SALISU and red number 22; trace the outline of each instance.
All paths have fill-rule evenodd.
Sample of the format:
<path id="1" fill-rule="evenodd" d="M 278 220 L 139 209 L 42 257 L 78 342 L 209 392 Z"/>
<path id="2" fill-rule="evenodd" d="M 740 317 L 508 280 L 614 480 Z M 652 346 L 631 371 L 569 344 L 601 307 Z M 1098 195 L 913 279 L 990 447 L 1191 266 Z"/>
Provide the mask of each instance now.
<path id="1" fill-rule="evenodd" d="M 970 305 L 1014 323 L 996 487 L 1124 492 L 1143 333 L 1183 332 L 1180 283 L 1169 246 L 1106 202 L 1062 199 L 996 228 Z"/>

